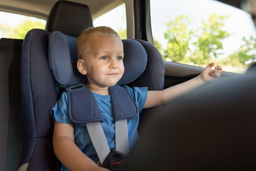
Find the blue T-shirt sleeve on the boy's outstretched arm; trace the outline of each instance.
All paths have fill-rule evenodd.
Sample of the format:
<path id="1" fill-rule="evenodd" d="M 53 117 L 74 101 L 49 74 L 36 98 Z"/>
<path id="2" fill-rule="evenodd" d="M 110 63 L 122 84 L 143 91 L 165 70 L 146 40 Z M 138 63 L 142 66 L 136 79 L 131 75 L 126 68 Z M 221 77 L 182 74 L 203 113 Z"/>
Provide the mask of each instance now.
<path id="1" fill-rule="evenodd" d="M 135 103 L 138 105 L 139 113 L 144 107 L 148 96 L 148 87 L 133 87 L 124 86 L 124 88 L 131 94 Z"/>

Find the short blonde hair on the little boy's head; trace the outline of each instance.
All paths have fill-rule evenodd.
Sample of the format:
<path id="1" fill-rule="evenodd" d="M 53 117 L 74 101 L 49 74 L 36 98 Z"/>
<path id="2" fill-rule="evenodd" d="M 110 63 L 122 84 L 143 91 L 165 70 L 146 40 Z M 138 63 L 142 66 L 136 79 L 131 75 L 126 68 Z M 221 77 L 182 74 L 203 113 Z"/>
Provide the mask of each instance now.
<path id="1" fill-rule="evenodd" d="M 78 59 L 82 59 L 82 57 L 90 51 L 90 43 L 96 36 L 107 36 L 121 39 L 117 32 L 110 27 L 100 26 L 88 28 L 78 36 L 78 39 L 76 41 L 76 51 Z"/>

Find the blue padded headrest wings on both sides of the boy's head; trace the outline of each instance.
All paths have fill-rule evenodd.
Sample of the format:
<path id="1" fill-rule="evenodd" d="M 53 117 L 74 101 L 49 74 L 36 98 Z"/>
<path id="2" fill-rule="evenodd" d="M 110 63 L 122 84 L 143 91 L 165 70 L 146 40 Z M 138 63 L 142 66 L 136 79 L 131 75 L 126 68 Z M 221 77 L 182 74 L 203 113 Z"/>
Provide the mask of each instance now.
<path id="1" fill-rule="evenodd" d="M 87 78 L 77 70 L 76 37 L 55 31 L 49 35 L 49 64 L 55 84 L 69 86 L 87 83 Z M 124 75 L 119 85 L 128 84 L 138 78 L 145 70 L 147 54 L 136 40 L 122 40 L 124 45 Z"/>

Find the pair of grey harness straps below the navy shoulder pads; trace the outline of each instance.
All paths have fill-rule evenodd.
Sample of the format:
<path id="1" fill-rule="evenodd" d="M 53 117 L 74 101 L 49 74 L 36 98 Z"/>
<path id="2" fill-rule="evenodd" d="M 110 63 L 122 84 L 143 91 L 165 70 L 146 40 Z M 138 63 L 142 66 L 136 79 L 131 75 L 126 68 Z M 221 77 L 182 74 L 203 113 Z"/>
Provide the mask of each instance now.
<path id="1" fill-rule="evenodd" d="M 91 122 L 87 123 L 86 127 L 99 161 L 101 164 L 103 164 L 110 153 L 110 149 L 102 125 L 100 122 Z M 124 155 L 128 155 L 129 140 L 127 119 L 122 119 L 115 122 L 115 137 L 116 151 Z"/>

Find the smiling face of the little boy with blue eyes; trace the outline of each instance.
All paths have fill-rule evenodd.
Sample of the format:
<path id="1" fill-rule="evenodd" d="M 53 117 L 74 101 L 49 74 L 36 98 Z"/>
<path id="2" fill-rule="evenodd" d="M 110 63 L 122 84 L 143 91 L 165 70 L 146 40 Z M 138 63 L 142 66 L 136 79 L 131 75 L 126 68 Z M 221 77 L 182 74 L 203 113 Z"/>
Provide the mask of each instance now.
<path id="1" fill-rule="evenodd" d="M 100 87 L 114 86 L 123 76 L 123 43 L 115 37 L 97 36 L 84 57 L 89 84 Z"/>

